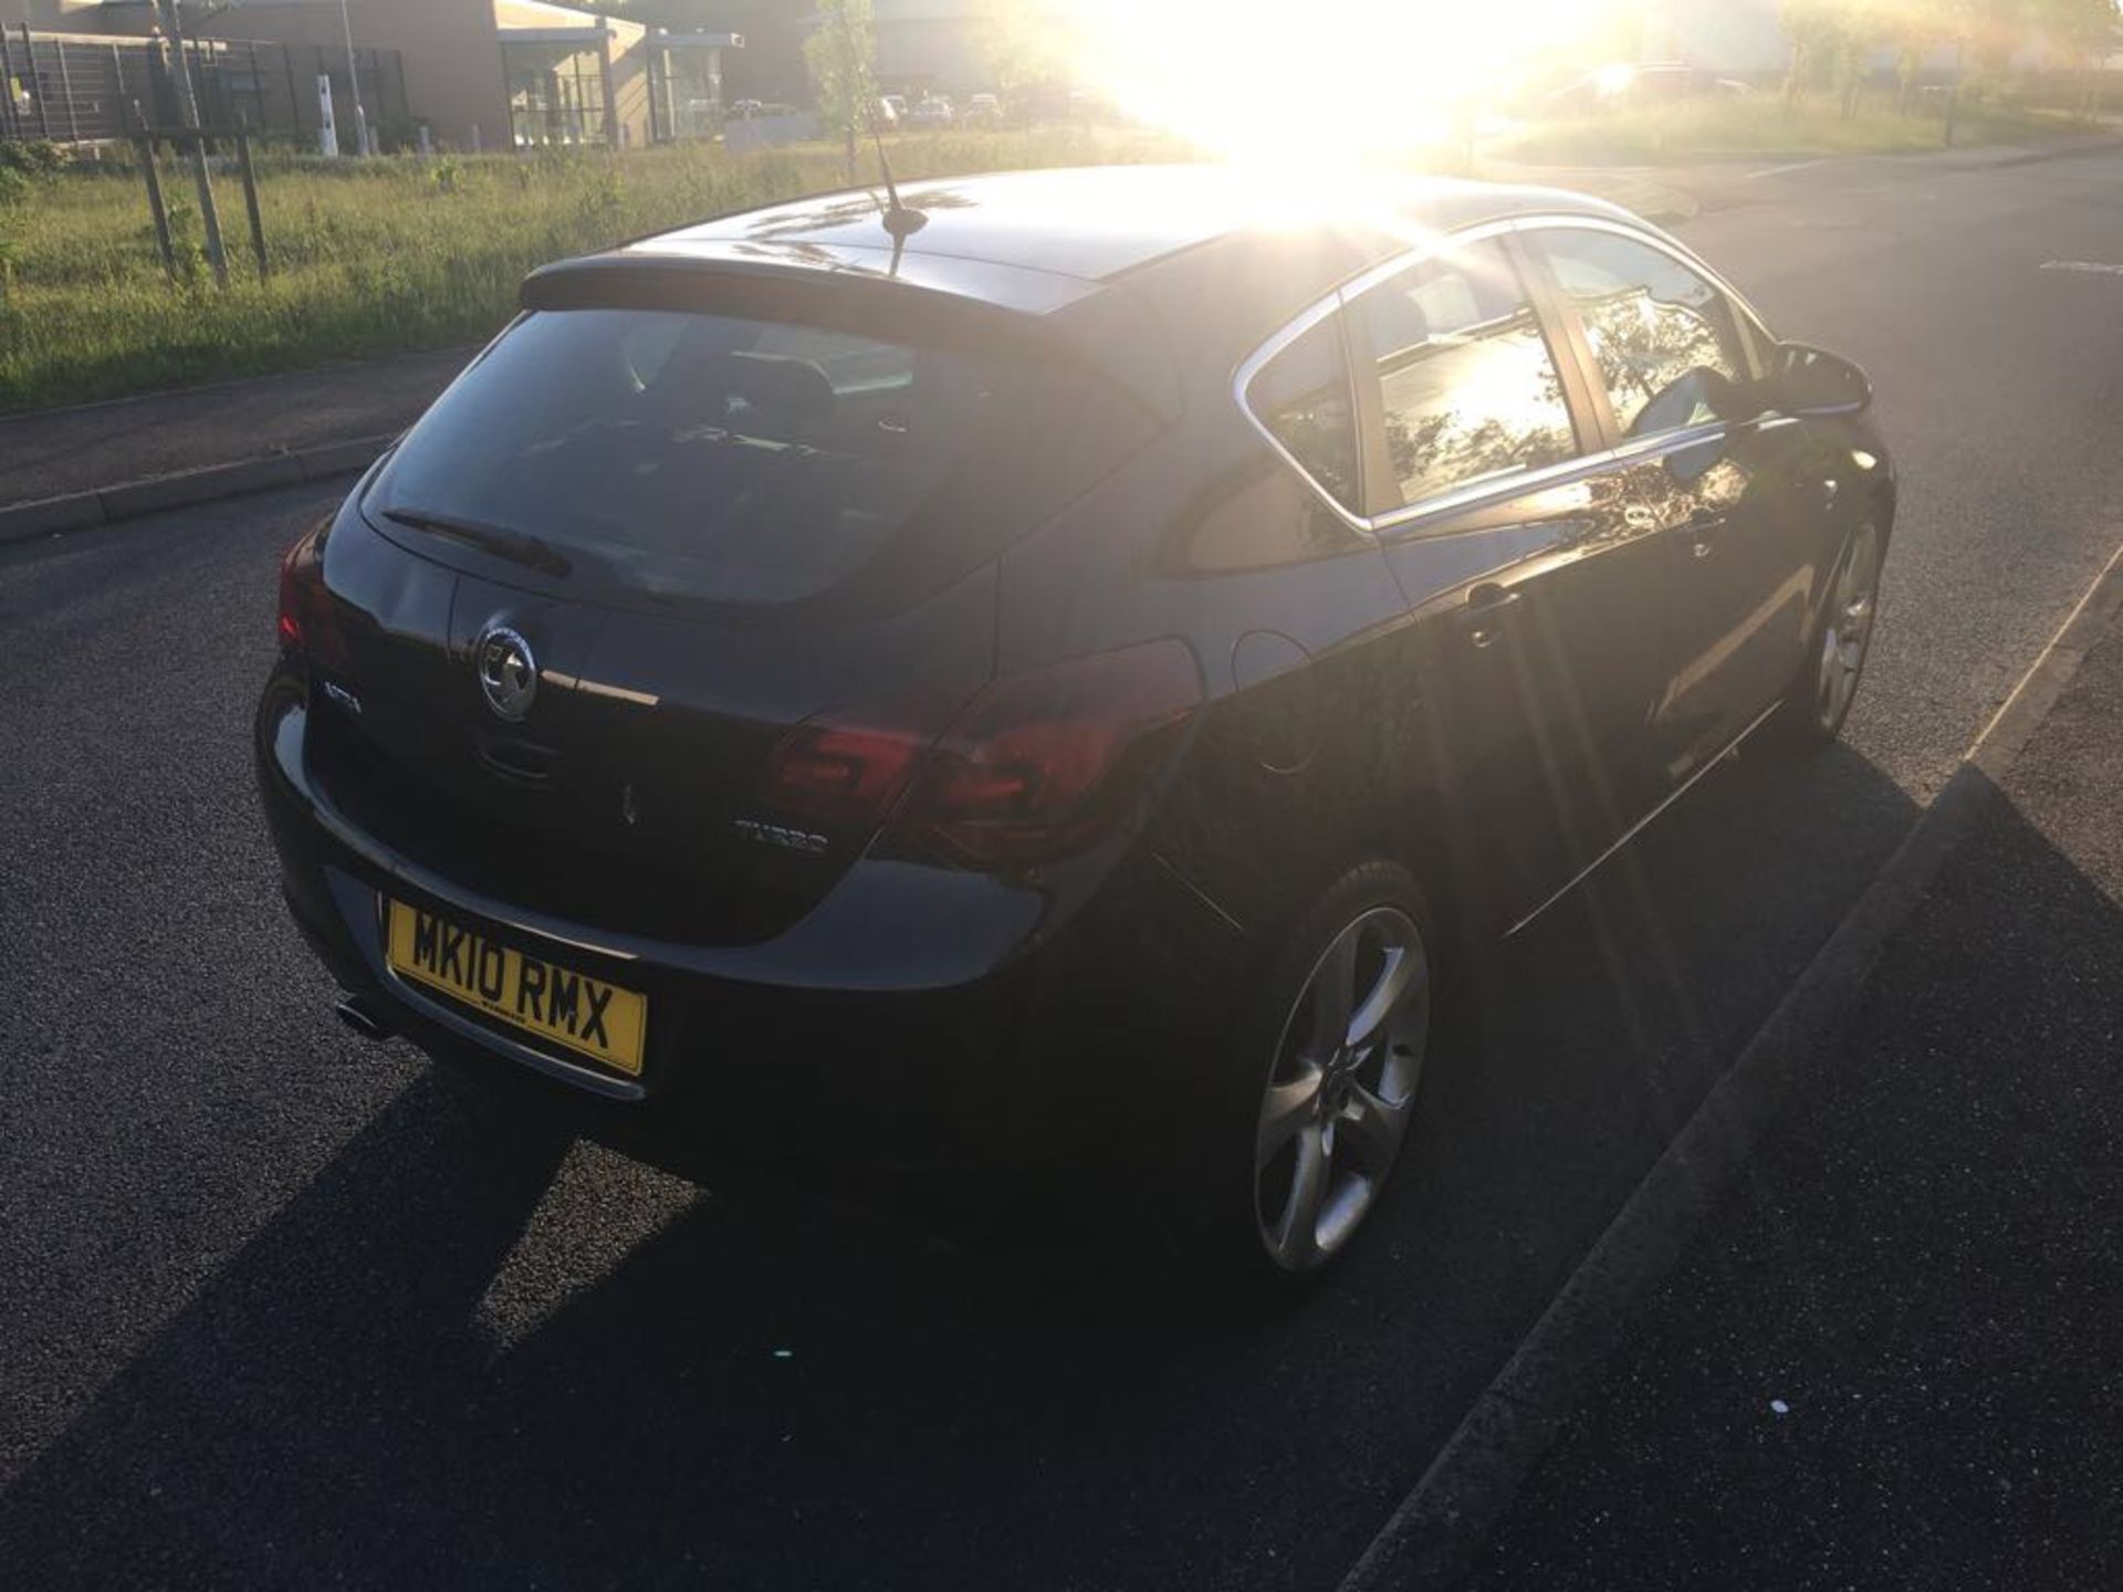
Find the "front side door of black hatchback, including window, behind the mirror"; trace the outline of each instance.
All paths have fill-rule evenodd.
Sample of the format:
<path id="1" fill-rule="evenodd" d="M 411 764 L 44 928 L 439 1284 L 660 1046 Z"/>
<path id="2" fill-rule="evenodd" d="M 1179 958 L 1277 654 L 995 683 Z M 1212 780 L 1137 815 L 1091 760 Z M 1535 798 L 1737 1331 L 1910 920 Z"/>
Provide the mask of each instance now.
<path id="1" fill-rule="evenodd" d="M 1802 662 L 1824 480 L 1805 427 L 1751 401 L 1743 312 L 1671 248 L 1605 223 L 1524 238 L 1584 350 L 1601 427 L 1660 533 L 1671 590 L 1652 734 L 1681 783 Z"/>

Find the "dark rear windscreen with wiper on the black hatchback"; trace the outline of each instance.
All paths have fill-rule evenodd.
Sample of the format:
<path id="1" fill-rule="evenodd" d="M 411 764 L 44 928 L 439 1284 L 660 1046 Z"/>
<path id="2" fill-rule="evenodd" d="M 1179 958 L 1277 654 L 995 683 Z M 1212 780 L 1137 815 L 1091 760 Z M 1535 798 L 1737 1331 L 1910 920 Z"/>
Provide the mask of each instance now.
<path id="1" fill-rule="evenodd" d="M 422 541 L 442 558 L 535 541 L 541 558 L 524 563 L 573 586 L 798 603 L 964 573 L 1149 429 L 1059 361 L 722 314 L 543 310 L 444 393 L 363 509 L 395 537 L 444 529 Z"/>

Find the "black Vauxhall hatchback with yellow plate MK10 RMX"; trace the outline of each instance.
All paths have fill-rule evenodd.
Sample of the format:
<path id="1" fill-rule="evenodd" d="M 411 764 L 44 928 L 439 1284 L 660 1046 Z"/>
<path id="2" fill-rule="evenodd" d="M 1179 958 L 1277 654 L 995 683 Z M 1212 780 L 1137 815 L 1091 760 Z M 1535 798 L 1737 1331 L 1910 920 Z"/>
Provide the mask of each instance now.
<path id="1" fill-rule="evenodd" d="M 287 556 L 287 898 L 348 1021 L 592 1117 L 1013 1176 L 1140 1131 L 1306 1276 L 1448 936 L 1839 732 L 1868 401 L 1537 189 L 1036 172 L 552 265 Z"/>

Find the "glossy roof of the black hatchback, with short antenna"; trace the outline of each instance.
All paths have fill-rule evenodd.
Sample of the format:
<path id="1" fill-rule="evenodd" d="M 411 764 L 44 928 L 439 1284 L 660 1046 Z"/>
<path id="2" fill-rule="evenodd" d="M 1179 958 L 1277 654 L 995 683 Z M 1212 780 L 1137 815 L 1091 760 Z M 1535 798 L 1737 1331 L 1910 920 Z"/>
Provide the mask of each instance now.
<path id="1" fill-rule="evenodd" d="M 883 189 L 845 189 L 546 265 L 522 304 L 817 314 L 830 299 L 856 331 L 1036 327 L 1176 414 L 1189 374 L 1227 376 L 1306 304 L 1427 238 L 1531 214 L 1635 221 L 1556 189 L 1391 178 L 1329 200 L 1318 187 L 1278 189 L 1227 166 L 951 176 L 900 185 L 924 217 L 902 238 L 885 229 Z M 824 282 L 834 291 L 817 299 Z"/>

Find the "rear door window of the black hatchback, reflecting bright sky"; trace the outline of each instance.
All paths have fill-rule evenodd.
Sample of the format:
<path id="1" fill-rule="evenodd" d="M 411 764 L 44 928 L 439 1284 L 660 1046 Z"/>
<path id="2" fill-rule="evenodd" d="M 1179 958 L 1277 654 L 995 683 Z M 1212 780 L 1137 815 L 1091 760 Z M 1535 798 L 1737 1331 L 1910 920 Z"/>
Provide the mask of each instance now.
<path id="1" fill-rule="evenodd" d="M 1556 361 L 1499 244 L 1412 265 L 1348 314 L 1399 505 L 1577 452 Z"/>

